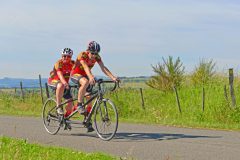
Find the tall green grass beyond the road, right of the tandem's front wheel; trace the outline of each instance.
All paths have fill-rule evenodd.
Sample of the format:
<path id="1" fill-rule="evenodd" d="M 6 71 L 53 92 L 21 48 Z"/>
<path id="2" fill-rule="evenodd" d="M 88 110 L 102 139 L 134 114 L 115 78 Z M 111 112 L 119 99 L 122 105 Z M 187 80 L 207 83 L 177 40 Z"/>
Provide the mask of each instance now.
<path id="1" fill-rule="evenodd" d="M 116 103 L 119 117 L 125 122 L 163 124 L 179 127 L 240 129 L 240 83 L 235 82 L 236 106 L 224 96 L 226 81 L 213 81 L 205 88 L 205 108 L 202 108 L 202 86 L 184 84 L 178 89 L 179 112 L 174 92 L 161 92 L 151 88 L 143 90 L 144 108 L 139 89 L 119 89 L 109 97 Z"/>

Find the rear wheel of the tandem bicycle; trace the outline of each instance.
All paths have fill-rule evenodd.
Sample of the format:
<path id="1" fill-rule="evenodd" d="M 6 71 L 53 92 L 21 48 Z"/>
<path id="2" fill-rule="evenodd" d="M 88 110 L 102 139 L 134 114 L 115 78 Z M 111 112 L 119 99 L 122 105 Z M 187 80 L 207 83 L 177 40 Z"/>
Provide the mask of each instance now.
<path id="1" fill-rule="evenodd" d="M 56 134 L 61 127 L 61 118 L 56 110 L 57 102 L 53 98 L 47 99 L 43 106 L 42 119 L 46 131 L 50 134 Z"/>

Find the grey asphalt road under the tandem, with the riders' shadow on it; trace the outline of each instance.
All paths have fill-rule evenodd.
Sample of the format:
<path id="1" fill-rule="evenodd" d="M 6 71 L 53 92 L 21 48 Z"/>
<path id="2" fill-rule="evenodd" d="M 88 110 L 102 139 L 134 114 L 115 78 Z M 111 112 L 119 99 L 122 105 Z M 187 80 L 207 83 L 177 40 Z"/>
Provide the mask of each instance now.
<path id="1" fill-rule="evenodd" d="M 120 123 L 111 141 L 100 140 L 75 126 L 48 134 L 40 118 L 0 116 L 0 135 L 30 143 L 62 146 L 85 152 L 105 152 L 138 160 L 239 160 L 240 132 Z"/>

